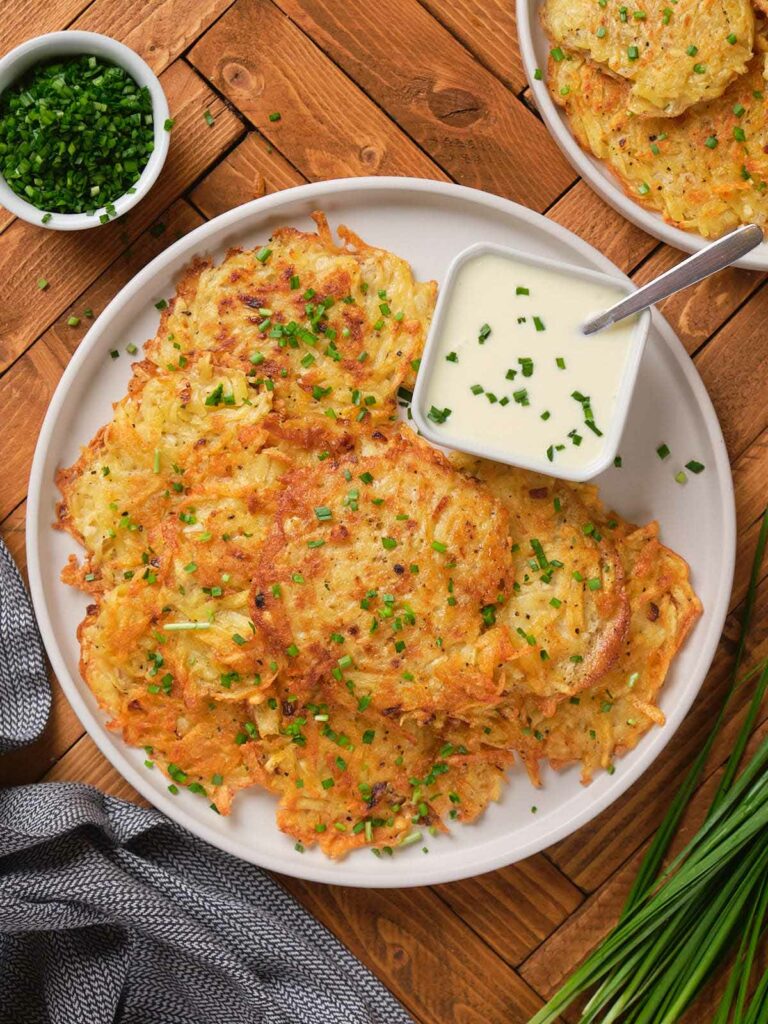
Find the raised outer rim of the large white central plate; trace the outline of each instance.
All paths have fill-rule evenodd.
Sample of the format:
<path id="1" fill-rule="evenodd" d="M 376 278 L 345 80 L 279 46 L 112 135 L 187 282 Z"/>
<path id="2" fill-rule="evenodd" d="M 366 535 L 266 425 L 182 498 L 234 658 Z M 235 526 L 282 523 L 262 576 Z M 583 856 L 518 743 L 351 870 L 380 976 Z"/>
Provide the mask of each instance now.
<path id="1" fill-rule="evenodd" d="M 444 865 L 439 865 L 436 871 L 430 866 L 433 862 L 430 861 L 430 864 L 425 864 L 421 867 L 423 861 L 419 861 L 418 863 L 420 868 L 416 868 L 416 870 L 413 871 L 413 878 L 409 877 L 404 871 L 400 877 L 396 877 L 394 874 L 382 874 L 381 872 L 377 873 L 376 865 L 372 865 L 370 869 L 366 869 L 351 878 L 346 878 L 344 873 L 343 860 L 328 860 L 327 862 L 324 861 L 319 863 L 313 863 L 307 860 L 305 862 L 306 867 L 304 869 L 295 870 L 294 864 L 287 864 L 280 854 L 273 855 L 270 853 L 263 853 L 259 850 L 254 851 L 250 848 L 244 849 L 243 844 L 234 838 L 224 836 L 221 833 L 209 827 L 204 822 L 200 822 L 194 817 L 188 816 L 182 805 L 174 804 L 171 797 L 164 793 L 159 793 L 154 787 L 151 780 L 139 772 L 136 767 L 134 767 L 121 748 L 113 745 L 109 742 L 109 732 L 106 726 L 101 718 L 97 717 L 97 714 L 100 716 L 103 713 L 100 712 L 100 710 L 97 710 L 97 714 L 94 714 L 91 711 L 86 703 L 85 697 L 80 692 L 78 683 L 70 675 L 63 654 L 61 649 L 59 649 L 59 645 L 56 640 L 55 630 L 53 628 L 48 611 L 48 605 L 45 600 L 42 561 L 38 548 L 38 531 L 43 526 L 43 523 L 40 521 L 40 515 L 41 495 L 45 484 L 45 462 L 48 447 L 51 443 L 55 430 L 56 421 L 61 412 L 61 408 L 66 402 L 71 383 L 79 374 L 80 368 L 85 362 L 91 349 L 96 347 L 101 339 L 101 336 L 109 331 L 112 316 L 118 312 L 124 304 L 129 302 L 135 293 L 142 290 L 147 283 L 151 283 L 154 276 L 159 271 L 164 269 L 166 265 L 172 263 L 182 254 L 186 254 L 187 258 L 191 258 L 195 255 L 196 248 L 200 248 L 209 236 L 217 233 L 218 230 L 226 228 L 239 219 L 245 219 L 254 213 L 260 213 L 267 216 L 273 210 L 279 209 L 282 206 L 293 205 L 302 199 L 319 199 L 326 196 L 333 197 L 339 193 L 355 194 L 376 190 L 384 193 L 428 193 L 447 200 L 464 200 L 470 204 L 484 206 L 500 213 L 508 215 L 511 214 L 519 221 L 526 222 L 538 231 L 543 230 L 556 239 L 565 239 L 568 245 L 572 246 L 575 251 L 583 255 L 586 260 L 591 263 L 591 265 L 596 265 L 597 267 L 605 270 L 605 272 L 613 274 L 614 276 L 626 279 L 626 275 L 623 274 L 621 270 L 618 270 L 618 268 L 607 259 L 607 257 L 583 239 L 579 238 L 579 236 L 574 234 L 572 231 L 562 227 L 556 221 L 551 221 L 543 215 L 528 210 L 511 200 L 503 199 L 502 197 L 495 196 L 490 193 L 470 188 L 466 185 L 454 184 L 453 182 L 408 177 L 337 178 L 305 185 L 297 185 L 293 188 L 283 189 L 260 199 L 252 200 L 250 203 L 246 203 L 240 207 L 234 207 L 232 210 L 228 210 L 226 213 L 201 224 L 188 234 L 171 245 L 163 253 L 156 256 L 150 263 L 146 264 L 146 266 L 142 267 L 142 269 L 139 270 L 138 273 L 136 273 L 126 285 L 124 285 L 117 295 L 108 303 L 74 352 L 50 399 L 36 443 L 28 487 L 26 545 L 30 591 L 32 594 L 33 605 L 40 634 L 43 638 L 48 657 L 65 696 L 67 697 L 72 709 L 75 711 L 75 714 L 77 715 L 86 733 L 94 741 L 101 754 L 113 765 L 118 773 L 125 778 L 126 781 L 128 781 L 152 806 L 156 807 L 171 818 L 171 820 L 175 821 L 182 827 L 187 828 L 194 835 L 210 843 L 217 849 L 223 850 L 226 853 L 238 856 L 250 863 L 257 864 L 258 866 L 270 870 L 291 874 L 295 878 L 301 878 L 307 881 L 323 882 L 334 885 L 347 885 L 355 888 L 410 888 L 412 886 L 436 885 L 445 882 L 458 881 L 460 879 L 471 878 L 500 867 L 505 867 L 526 857 L 532 856 L 535 853 L 539 853 L 552 846 L 554 843 L 572 835 L 572 833 L 574 833 L 578 828 L 593 820 L 598 814 L 602 813 L 602 811 L 614 803 L 618 797 L 621 797 L 642 774 L 644 774 L 645 771 L 648 770 L 667 743 L 672 739 L 673 735 L 677 732 L 680 723 L 688 713 L 690 706 L 698 695 L 701 685 L 703 684 L 707 673 L 709 672 L 712 664 L 712 659 L 715 655 L 715 651 L 717 650 L 722 628 L 726 620 L 735 566 L 736 520 L 733 481 L 722 430 L 703 382 L 698 376 L 692 360 L 688 357 L 687 353 L 680 345 L 677 336 L 659 313 L 655 310 L 653 311 L 652 327 L 655 329 L 656 333 L 660 335 L 660 339 L 664 344 L 666 344 L 671 350 L 673 358 L 677 360 L 681 372 L 685 376 L 688 385 L 691 387 L 696 404 L 701 410 L 708 432 L 711 435 L 718 478 L 722 481 L 722 486 L 720 488 L 720 501 L 722 506 L 721 511 L 725 536 L 723 537 L 721 547 L 723 554 L 723 571 L 721 573 L 721 579 L 723 584 L 727 584 L 727 586 L 721 586 L 718 591 L 717 600 L 713 602 L 713 607 L 707 609 L 710 622 L 713 624 L 717 623 L 717 629 L 715 629 L 714 625 L 710 627 L 708 642 L 702 644 L 698 650 L 698 656 L 694 665 L 695 671 L 692 673 L 693 675 L 700 677 L 697 686 L 692 688 L 691 691 L 685 695 L 684 699 L 679 701 L 679 703 L 672 709 L 671 713 L 668 715 L 667 724 L 663 729 L 649 733 L 645 740 L 647 746 L 645 755 L 638 757 L 637 762 L 630 766 L 626 771 L 615 773 L 615 775 L 611 777 L 611 784 L 609 784 L 601 795 L 598 795 L 591 804 L 570 816 L 564 816 L 563 820 L 561 820 L 556 826 L 551 827 L 548 831 L 538 836 L 536 839 L 519 845 L 512 855 L 505 853 L 497 855 L 486 854 L 484 857 L 480 856 L 479 858 L 474 859 L 467 858 L 468 862 L 466 864 L 454 864 L 447 869 L 445 869 Z M 251 225 L 249 225 L 249 229 L 252 229 Z M 48 524 L 46 528 L 50 528 L 50 525 Z M 82 681 L 81 685 L 84 685 L 82 684 Z M 480 850 L 478 849 L 478 853 L 479 852 Z M 409 866 L 413 869 L 416 865 L 411 864 Z"/>

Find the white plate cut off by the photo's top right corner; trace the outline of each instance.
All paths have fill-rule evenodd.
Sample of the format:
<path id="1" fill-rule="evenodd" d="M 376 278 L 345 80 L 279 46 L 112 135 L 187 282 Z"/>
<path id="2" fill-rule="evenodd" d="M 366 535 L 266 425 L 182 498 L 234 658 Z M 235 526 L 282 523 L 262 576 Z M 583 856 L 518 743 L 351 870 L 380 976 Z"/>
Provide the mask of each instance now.
<path id="1" fill-rule="evenodd" d="M 675 249 L 682 249 L 683 252 L 694 253 L 703 249 L 708 245 L 707 239 L 668 224 L 660 214 L 636 203 L 622 188 L 618 178 L 607 164 L 584 151 L 573 138 L 562 109 L 552 99 L 547 86 L 547 61 L 551 44 L 539 17 L 542 5 L 542 0 L 517 0 L 517 36 L 525 75 L 537 109 L 552 137 L 584 180 L 627 220 L 631 220 L 633 224 L 642 227 L 660 242 L 666 242 Z M 537 68 L 541 68 L 544 72 L 544 79 L 541 81 L 534 78 Z M 768 243 L 758 246 L 739 260 L 736 266 L 748 267 L 751 270 L 768 270 Z"/>

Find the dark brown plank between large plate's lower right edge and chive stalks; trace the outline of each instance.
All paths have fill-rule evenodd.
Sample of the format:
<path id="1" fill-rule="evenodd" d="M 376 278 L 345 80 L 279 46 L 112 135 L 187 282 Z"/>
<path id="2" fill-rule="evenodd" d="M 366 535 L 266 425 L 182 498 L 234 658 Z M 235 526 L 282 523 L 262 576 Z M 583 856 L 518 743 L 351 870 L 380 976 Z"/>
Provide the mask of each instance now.
<path id="1" fill-rule="evenodd" d="M 731 614 L 725 638 L 718 647 L 712 669 L 692 710 L 651 768 L 616 801 L 584 828 L 551 847 L 547 856 L 581 889 L 594 892 L 610 878 L 657 827 L 684 772 L 692 763 L 712 728 L 732 670 L 734 639 L 738 618 Z M 750 659 L 744 670 L 768 656 L 768 580 L 758 590 L 750 638 Z M 715 743 L 712 771 L 727 757 L 738 729 L 738 714 L 749 696 L 741 687 L 732 701 L 727 725 Z M 621 770 L 621 764 L 616 770 Z"/>

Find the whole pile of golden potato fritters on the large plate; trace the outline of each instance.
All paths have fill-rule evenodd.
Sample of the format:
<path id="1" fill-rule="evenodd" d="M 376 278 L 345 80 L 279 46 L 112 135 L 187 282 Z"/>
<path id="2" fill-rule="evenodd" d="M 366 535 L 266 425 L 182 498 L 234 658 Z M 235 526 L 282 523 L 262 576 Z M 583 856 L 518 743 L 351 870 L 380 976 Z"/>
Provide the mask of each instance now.
<path id="1" fill-rule="evenodd" d="M 317 222 L 189 267 L 58 523 L 111 727 L 338 857 L 473 820 L 516 756 L 608 767 L 698 605 L 653 525 L 393 422 L 434 285 Z"/>

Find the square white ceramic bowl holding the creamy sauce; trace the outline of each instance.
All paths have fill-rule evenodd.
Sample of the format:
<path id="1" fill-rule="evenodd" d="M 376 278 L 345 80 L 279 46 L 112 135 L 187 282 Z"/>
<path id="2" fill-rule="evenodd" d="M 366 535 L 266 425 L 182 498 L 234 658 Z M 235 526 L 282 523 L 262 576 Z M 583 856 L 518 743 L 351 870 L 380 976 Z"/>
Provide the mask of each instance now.
<path id="1" fill-rule="evenodd" d="M 471 440 L 470 438 L 453 433 L 450 427 L 447 429 L 435 430 L 427 417 L 429 380 L 435 358 L 438 354 L 438 339 L 442 334 L 443 322 L 450 306 L 457 274 L 466 262 L 476 259 L 484 253 L 503 256 L 514 260 L 516 263 L 527 263 L 530 266 L 541 266 L 550 270 L 557 270 L 564 275 L 578 278 L 582 281 L 594 281 L 597 284 L 608 285 L 611 289 L 624 292 L 627 295 L 634 292 L 636 288 L 629 278 L 616 278 L 613 274 L 602 273 L 600 270 L 591 270 L 584 266 L 577 266 L 573 263 L 566 263 L 563 260 L 550 259 L 546 256 L 531 256 L 530 253 L 520 249 L 510 249 L 508 246 L 499 246 L 487 242 L 477 242 L 469 246 L 468 249 L 465 249 L 456 256 L 449 267 L 445 282 L 437 298 L 437 305 L 435 306 L 432 324 L 429 329 L 429 337 L 424 346 L 419 376 L 416 379 L 416 388 L 414 389 L 414 400 L 411 406 L 411 411 L 419 427 L 419 431 L 427 440 L 432 441 L 433 444 L 458 449 L 461 452 L 468 452 L 470 455 L 479 456 L 481 459 L 493 459 L 494 462 L 504 462 L 514 466 L 521 466 L 523 469 L 530 469 L 536 473 L 550 474 L 553 472 L 553 466 L 547 462 L 544 456 L 525 456 L 522 452 L 515 453 L 505 449 L 501 444 L 497 445 L 493 442 L 483 444 L 477 439 Z M 632 333 L 627 360 L 618 384 L 613 415 L 606 424 L 603 424 L 605 426 L 605 436 L 601 451 L 584 466 L 557 466 L 556 472 L 561 479 L 575 480 L 578 482 L 591 480 L 612 465 L 613 458 L 618 451 L 622 434 L 624 433 L 624 425 L 630 410 L 635 382 L 637 381 L 637 374 L 640 369 L 640 359 L 645 348 L 649 328 L 650 311 L 644 309 L 638 315 L 635 329 Z"/>

